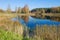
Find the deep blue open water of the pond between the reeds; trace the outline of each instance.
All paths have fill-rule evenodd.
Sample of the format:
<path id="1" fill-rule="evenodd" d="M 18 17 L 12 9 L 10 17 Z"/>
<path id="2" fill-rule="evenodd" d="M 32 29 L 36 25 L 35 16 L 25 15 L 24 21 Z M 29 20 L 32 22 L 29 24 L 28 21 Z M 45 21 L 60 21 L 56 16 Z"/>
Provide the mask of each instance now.
<path id="1" fill-rule="evenodd" d="M 12 20 L 16 21 L 17 18 L 13 18 Z M 18 18 L 18 21 L 23 24 L 26 25 L 30 28 L 35 27 L 36 25 L 60 25 L 60 22 L 57 21 L 52 21 L 52 20 L 47 20 L 47 19 L 36 19 L 36 18 L 32 18 L 29 17 L 28 22 L 25 22 L 22 18 Z"/>

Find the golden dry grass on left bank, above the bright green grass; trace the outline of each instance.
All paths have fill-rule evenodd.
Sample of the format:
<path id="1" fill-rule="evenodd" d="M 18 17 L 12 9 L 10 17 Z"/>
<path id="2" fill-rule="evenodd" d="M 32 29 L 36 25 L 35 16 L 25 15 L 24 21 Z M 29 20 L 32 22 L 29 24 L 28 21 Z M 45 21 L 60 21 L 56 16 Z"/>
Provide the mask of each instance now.
<path id="1" fill-rule="evenodd" d="M 23 26 L 18 21 L 12 21 L 8 19 L 7 17 L 1 17 L 0 18 L 0 28 L 7 30 L 7 31 L 13 31 L 15 33 L 22 34 L 23 33 Z"/>

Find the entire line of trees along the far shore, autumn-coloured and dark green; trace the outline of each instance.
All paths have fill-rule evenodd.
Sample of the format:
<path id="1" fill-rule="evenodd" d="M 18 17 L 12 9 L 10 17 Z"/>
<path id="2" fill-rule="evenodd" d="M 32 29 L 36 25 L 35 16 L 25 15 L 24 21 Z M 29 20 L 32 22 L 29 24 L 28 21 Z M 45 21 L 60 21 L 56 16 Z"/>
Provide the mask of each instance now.
<path id="1" fill-rule="evenodd" d="M 45 13 L 60 13 L 60 7 L 52 7 L 52 8 L 35 8 L 35 9 L 32 9 L 31 11 L 29 10 L 28 6 L 25 5 L 23 8 L 16 8 L 15 11 L 11 11 L 11 8 L 8 8 L 7 10 L 2 10 L 0 9 L 0 12 L 12 12 L 12 13 L 28 13 L 28 12 L 45 12 Z"/>

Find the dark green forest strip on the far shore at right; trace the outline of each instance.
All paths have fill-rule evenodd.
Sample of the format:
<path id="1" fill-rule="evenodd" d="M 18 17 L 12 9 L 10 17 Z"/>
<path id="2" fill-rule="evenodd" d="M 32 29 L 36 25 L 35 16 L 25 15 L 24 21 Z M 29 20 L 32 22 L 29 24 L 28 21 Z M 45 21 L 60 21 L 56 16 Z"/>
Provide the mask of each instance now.
<path id="1" fill-rule="evenodd" d="M 31 12 L 42 12 L 45 11 L 45 13 L 60 13 L 60 7 L 53 7 L 53 8 L 35 8 L 32 9 Z"/>

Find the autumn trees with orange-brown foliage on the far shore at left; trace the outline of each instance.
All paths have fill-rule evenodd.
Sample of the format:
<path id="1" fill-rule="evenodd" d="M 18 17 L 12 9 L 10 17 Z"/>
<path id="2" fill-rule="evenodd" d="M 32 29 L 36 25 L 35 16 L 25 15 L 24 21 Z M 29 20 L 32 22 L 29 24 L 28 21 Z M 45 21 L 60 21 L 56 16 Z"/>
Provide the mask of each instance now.
<path id="1" fill-rule="evenodd" d="M 28 7 L 28 5 L 25 5 L 23 8 L 17 7 L 17 8 L 15 8 L 14 11 L 12 11 L 10 6 L 8 6 L 8 8 L 6 10 L 0 9 L 0 13 L 5 13 L 5 12 L 6 13 L 29 13 L 29 7 Z"/>

